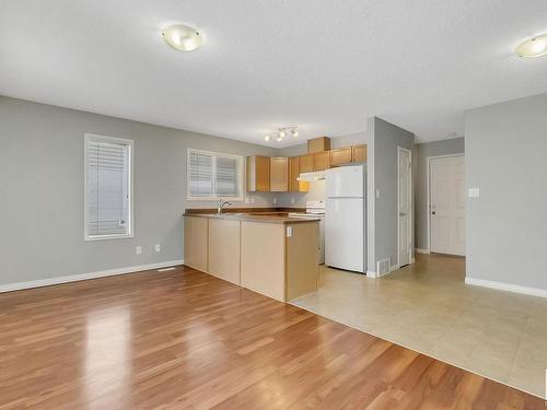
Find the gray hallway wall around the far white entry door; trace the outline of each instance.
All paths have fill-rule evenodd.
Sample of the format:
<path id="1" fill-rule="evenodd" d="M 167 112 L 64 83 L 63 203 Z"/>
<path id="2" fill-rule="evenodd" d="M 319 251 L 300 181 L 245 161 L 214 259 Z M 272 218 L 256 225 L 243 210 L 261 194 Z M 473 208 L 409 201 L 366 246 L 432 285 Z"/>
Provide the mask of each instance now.
<path id="1" fill-rule="evenodd" d="M 464 138 L 453 138 L 451 140 L 442 140 L 416 144 L 417 177 L 415 190 L 415 221 L 416 221 L 416 247 L 419 249 L 428 249 L 428 157 L 437 155 L 462 154 L 465 152 Z"/>

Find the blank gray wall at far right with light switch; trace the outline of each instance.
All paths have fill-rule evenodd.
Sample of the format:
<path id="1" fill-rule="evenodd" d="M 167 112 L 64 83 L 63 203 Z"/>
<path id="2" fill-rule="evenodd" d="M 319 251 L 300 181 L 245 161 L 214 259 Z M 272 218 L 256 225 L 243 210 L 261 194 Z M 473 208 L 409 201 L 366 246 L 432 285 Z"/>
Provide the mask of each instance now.
<path id="1" fill-rule="evenodd" d="M 467 277 L 547 290 L 547 94 L 465 115 Z"/>

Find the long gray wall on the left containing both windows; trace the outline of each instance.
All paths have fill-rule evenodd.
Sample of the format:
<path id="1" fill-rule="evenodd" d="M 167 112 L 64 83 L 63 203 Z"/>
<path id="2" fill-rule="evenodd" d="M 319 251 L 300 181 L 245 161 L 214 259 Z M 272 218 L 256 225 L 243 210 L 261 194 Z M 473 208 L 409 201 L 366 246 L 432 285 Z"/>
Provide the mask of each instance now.
<path id="1" fill-rule="evenodd" d="M 135 237 L 83 241 L 84 132 L 135 140 Z M 183 259 L 188 148 L 277 150 L 0 96 L 0 284 Z M 272 196 L 253 196 L 271 206 Z M 243 206 L 243 203 L 240 203 Z M 162 251 L 155 254 L 153 246 Z M 135 246 L 142 246 L 136 255 Z"/>

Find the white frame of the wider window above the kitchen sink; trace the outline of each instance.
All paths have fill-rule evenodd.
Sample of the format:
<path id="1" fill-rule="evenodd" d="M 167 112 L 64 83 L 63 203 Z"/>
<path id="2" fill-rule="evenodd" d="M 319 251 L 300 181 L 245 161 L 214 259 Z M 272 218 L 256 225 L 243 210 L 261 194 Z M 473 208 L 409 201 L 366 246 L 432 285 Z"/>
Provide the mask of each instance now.
<path id="1" fill-rule="evenodd" d="M 206 154 L 212 155 L 212 176 L 213 176 L 213 196 L 211 197 L 196 197 L 190 192 L 190 155 L 191 153 L 197 154 Z M 237 186 L 240 187 L 237 197 L 225 197 L 217 195 L 217 157 L 228 157 L 236 161 L 237 164 Z M 243 202 L 245 200 L 245 190 L 244 190 L 244 178 L 245 178 L 245 157 L 243 155 L 228 154 L 225 152 L 214 152 L 214 151 L 205 151 L 205 150 L 196 150 L 189 148 L 187 150 L 186 155 L 186 199 L 188 201 L 218 201 L 220 199 L 232 201 L 232 202 Z"/>

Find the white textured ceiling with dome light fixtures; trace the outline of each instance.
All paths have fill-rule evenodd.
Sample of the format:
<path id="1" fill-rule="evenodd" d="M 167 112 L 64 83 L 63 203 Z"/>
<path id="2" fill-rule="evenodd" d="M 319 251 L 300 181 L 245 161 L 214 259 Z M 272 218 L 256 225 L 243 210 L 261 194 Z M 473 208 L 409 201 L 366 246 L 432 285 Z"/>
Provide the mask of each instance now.
<path id="1" fill-rule="evenodd" d="M 172 23 L 205 46 L 167 47 Z M 547 58 L 513 52 L 546 31 L 545 0 L 2 0 L 0 94 L 271 147 L 373 115 L 433 141 L 546 92 Z"/>

